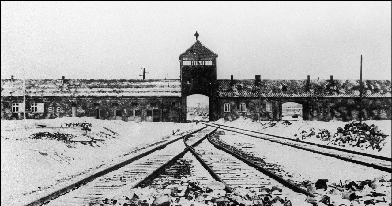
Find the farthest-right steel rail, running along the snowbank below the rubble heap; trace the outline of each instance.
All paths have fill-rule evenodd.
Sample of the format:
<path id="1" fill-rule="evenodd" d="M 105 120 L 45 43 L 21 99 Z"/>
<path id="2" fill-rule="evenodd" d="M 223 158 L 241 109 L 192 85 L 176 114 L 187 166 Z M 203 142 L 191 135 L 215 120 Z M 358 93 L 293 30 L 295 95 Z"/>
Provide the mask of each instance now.
<path id="1" fill-rule="evenodd" d="M 199 122 L 199 123 L 201 123 L 201 122 Z M 219 126 L 223 126 L 223 127 L 229 127 L 229 128 L 233 128 L 233 129 L 240 129 L 240 130 L 247 131 L 247 132 L 252 132 L 252 133 L 264 134 L 264 135 L 267 135 L 267 136 L 273 136 L 273 137 L 277 137 L 277 138 L 281 138 L 281 139 L 285 139 L 285 140 L 290 140 L 290 141 L 294 141 L 294 142 L 305 143 L 305 144 L 314 145 L 314 146 L 317 146 L 317 147 L 323 147 L 323 148 L 327 148 L 327 149 L 334 149 L 334 150 L 338 150 L 338 151 L 341 151 L 341 152 L 348 152 L 348 153 L 352 153 L 352 154 L 359 154 L 359 155 L 367 156 L 367 157 L 370 157 L 370 158 L 381 159 L 381 160 L 384 160 L 384 161 L 391 161 L 392 162 L 392 158 L 378 156 L 378 155 L 375 155 L 375 154 L 367 154 L 367 153 L 358 152 L 358 151 L 341 149 L 341 148 L 338 148 L 338 147 L 331 147 L 331 146 L 328 146 L 328 145 L 320 145 L 320 144 L 316 144 L 316 143 L 313 143 L 313 142 L 306 142 L 306 141 L 303 141 L 303 140 L 294 140 L 294 139 L 288 138 L 288 137 L 283 137 L 283 136 L 278 136 L 278 135 L 273 135 L 273 134 L 267 134 L 267 133 L 261 133 L 261 132 L 256 132 L 256 131 L 252 131 L 252 130 L 248 130 L 248 129 L 241 129 L 241 128 L 238 128 L 238 127 L 231 127 L 231 126 L 226 126 L 226 125 L 222 125 L 222 124 L 216 124 L 216 123 L 212 123 L 212 122 L 207 122 L 207 123 L 208 124 L 219 125 Z M 205 124 L 205 123 L 201 123 L 201 124 Z M 207 125 L 207 124 L 205 124 L 205 125 Z"/>

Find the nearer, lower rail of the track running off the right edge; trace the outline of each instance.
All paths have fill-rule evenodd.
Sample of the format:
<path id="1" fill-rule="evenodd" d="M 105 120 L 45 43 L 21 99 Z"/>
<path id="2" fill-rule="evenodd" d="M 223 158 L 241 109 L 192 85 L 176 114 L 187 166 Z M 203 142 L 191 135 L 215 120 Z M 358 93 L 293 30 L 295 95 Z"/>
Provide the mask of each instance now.
<path id="1" fill-rule="evenodd" d="M 201 122 L 200 122 L 200 123 L 201 123 Z M 204 124 L 204 123 L 201 123 L 201 124 Z M 205 125 L 207 125 L 207 124 L 205 124 Z M 208 126 L 214 127 L 214 126 L 212 126 L 212 125 L 208 125 Z M 219 126 L 220 126 L 220 125 L 219 125 Z M 227 126 L 225 126 L 225 125 L 221 125 L 221 126 L 227 127 Z M 287 145 L 287 146 L 294 147 L 294 148 L 297 148 L 297 149 L 307 150 L 307 151 L 309 151 L 309 152 L 315 152 L 315 153 L 317 153 L 317 154 L 322 154 L 322 155 L 325 155 L 325 156 L 330 156 L 330 157 L 333 157 L 333 158 L 338 158 L 338 159 L 341 159 L 341 160 L 344 160 L 344 161 L 356 163 L 356 164 L 358 164 L 358 165 L 364 165 L 364 166 L 367 166 L 367 167 L 371 167 L 371 168 L 375 168 L 375 169 L 378 169 L 378 170 L 381 170 L 381 171 L 385 171 L 385 172 L 390 172 L 390 173 L 392 173 L 392 168 L 383 167 L 383 166 L 381 166 L 381 165 L 375 165 L 375 164 L 372 164 L 372 163 L 367 163 L 367 162 L 359 161 L 359 160 L 356 160 L 356 159 L 350 159 L 350 158 L 338 156 L 338 155 L 335 155 L 335 154 L 329 154 L 329 153 L 326 153 L 326 152 L 321 152 L 321 151 L 317 151 L 317 150 L 313 150 L 313 149 L 309 149 L 309 148 L 304 148 L 304 147 L 300 147 L 300 146 L 297 146 L 297 145 L 292 145 L 292 144 L 289 144 L 289 143 L 279 142 L 279 141 L 276 141 L 276 140 L 270 140 L 270 139 L 268 139 L 268 138 L 263 138 L 263 137 L 255 136 L 255 135 L 252 135 L 252 134 L 246 134 L 246 133 L 242 133 L 242 132 L 235 131 L 235 130 L 232 130 L 232 129 L 225 129 L 225 128 L 222 128 L 222 127 L 216 127 L 216 128 L 224 129 L 224 130 L 231 131 L 231 132 L 235 132 L 235 133 L 239 133 L 239 134 L 244 134 L 244 135 L 251 136 L 251 137 L 255 137 L 255 138 L 259 138 L 259 139 L 262 139 L 262 140 L 268 140 L 268 141 L 270 141 L 270 142 L 279 143 L 279 144 L 282 144 L 282 145 Z M 232 128 L 238 129 L 238 128 L 236 128 L 236 127 L 232 127 Z M 267 135 L 268 135 L 268 134 L 267 134 Z"/>

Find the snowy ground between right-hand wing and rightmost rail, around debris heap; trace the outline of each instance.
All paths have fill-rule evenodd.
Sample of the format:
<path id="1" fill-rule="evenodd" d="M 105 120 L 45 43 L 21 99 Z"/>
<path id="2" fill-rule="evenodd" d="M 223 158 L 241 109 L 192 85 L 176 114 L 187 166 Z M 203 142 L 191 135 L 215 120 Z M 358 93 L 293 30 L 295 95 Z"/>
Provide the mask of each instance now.
<path id="1" fill-rule="evenodd" d="M 272 135 L 277 135 L 277 136 L 284 136 L 287 138 L 293 138 L 296 139 L 298 136 L 294 136 L 295 134 L 301 133 L 301 131 L 305 130 L 309 133 L 310 129 L 327 129 L 330 131 L 332 134 L 336 133 L 338 131 L 338 127 L 344 127 L 346 124 L 350 122 L 341 122 L 341 121 L 330 121 L 330 122 L 321 122 L 321 121 L 304 121 L 304 120 L 298 120 L 298 121 L 289 121 L 292 123 L 291 125 L 284 124 L 283 121 L 279 122 L 263 122 L 261 121 L 258 123 L 258 121 L 252 121 L 249 118 L 243 118 L 240 117 L 237 120 L 231 121 L 231 122 L 225 122 L 223 119 L 220 119 L 214 123 L 217 124 L 223 124 L 223 125 L 228 125 L 232 127 L 238 127 L 241 129 L 248 129 L 252 131 L 257 131 L 261 133 L 266 133 L 266 134 L 272 134 Z M 358 152 L 364 152 L 368 154 L 374 154 L 374 155 L 379 155 L 379 156 L 385 156 L 385 157 L 391 157 L 392 156 L 392 141 L 391 141 L 391 126 L 392 126 L 392 120 L 367 120 L 363 121 L 368 125 L 376 125 L 378 129 L 383 131 L 384 134 L 388 135 L 387 138 L 383 141 L 385 145 L 383 146 L 383 149 L 381 151 L 377 151 L 376 149 L 372 149 L 369 147 L 368 149 L 365 149 L 364 147 L 339 147 L 338 145 L 333 145 L 332 143 L 328 144 L 330 141 L 321 141 L 320 139 L 316 138 L 315 136 L 311 136 L 309 138 L 303 139 L 303 141 L 307 142 L 313 142 L 317 144 L 324 144 L 332 147 L 339 147 L 342 149 L 347 149 L 347 150 L 355 150 Z M 271 123 L 276 123 L 276 125 L 271 126 Z M 300 139 L 301 140 L 301 139 Z"/>

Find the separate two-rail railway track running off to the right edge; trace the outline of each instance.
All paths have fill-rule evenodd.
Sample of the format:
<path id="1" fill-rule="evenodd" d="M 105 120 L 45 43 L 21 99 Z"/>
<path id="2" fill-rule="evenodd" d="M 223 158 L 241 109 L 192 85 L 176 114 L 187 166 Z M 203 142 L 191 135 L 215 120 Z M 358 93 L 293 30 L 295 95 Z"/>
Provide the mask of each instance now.
<path id="1" fill-rule="evenodd" d="M 385 157 L 369 155 L 361 152 L 352 152 L 349 150 L 342 150 L 335 147 L 325 147 L 325 145 L 322 145 L 323 147 L 321 147 L 321 145 L 315 145 L 313 143 L 305 143 L 304 141 L 298 142 L 297 140 L 293 140 L 285 137 L 272 136 L 269 134 L 258 133 L 250 130 L 240 129 L 236 127 L 229 127 L 229 126 L 215 124 L 211 122 L 200 122 L 200 124 L 205 124 L 223 130 L 232 131 L 235 133 L 240 133 L 255 138 L 260 138 L 262 140 L 268 140 L 270 142 L 287 145 L 297 149 L 303 149 L 310 152 L 322 154 L 325 156 L 342 159 L 344 161 L 376 168 L 385 172 L 390 172 L 390 173 L 392 172 L 392 163 L 391 163 L 392 160 L 390 159 L 388 160 L 388 158 Z"/>

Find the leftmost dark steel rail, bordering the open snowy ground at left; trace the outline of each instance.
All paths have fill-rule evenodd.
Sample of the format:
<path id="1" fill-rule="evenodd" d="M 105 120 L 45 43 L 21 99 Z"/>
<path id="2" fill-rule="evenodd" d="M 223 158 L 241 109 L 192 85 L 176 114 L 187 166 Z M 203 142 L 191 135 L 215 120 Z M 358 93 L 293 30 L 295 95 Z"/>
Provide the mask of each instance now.
<path id="1" fill-rule="evenodd" d="M 113 165 L 113 166 L 109 167 L 109 168 L 105 168 L 105 169 L 103 169 L 103 170 L 101 170 L 99 172 L 94 173 L 91 176 L 85 177 L 85 178 L 77 181 L 76 183 L 72 183 L 72 184 L 70 184 L 68 186 L 65 186 L 63 188 L 60 188 L 60 189 L 58 189 L 58 190 L 56 190 L 56 191 L 54 191 L 54 192 L 52 192 L 52 193 L 50 193 L 48 195 L 45 195 L 44 197 L 40 197 L 39 199 L 34 200 L 33 202 L 27 204 L 26 206 L 41 206 L 41 205 L 43 205 L 43 204 L 45 204 L 45 203 L 47 203 L 47 202 L 49 202 L 49 201 L 51 201 L 53 199 L 56 199 L 57 197 L 60 197 L 61 195 L 64 195 L 65 193 L 68 193 L 68 192 L 70 192 L 72 190 L 76 190 L 80 186 L 83 186 L 86 183 L 88 183 L 90 181 L 93 181 L 94 179 L 96 179 L 96 178 L 98 178 L 100 176 L 103 176 L 105 174 L 108 174 L 109 172 L 112 172 L 112 171 L 117 170 L 117 169 L 119 169 L 121 167 L 124 167 L 125 165 L 128 165 L 129 163 L 132 163 L 133 161 L 136 161 L 136 160 L 138 160 L 140 158 L 143 158 L 143 157 L 151 154 L 152 152 L 155 152 L 157 150 L 163 149 L 167 145 L 169 145 L 169 144 L 171 144 L 173 142 L 176 142 L 177 140 L 180 140 L 181 138 L 185 138 L 185 136 L 188 136 L 188 135 L 191 135 L 191 134 L 194 134 L 194 133 L 198 133 L 198 132 L 200 132 L 201 130 L 203 130 L 205 128 L 207 128 L 207 126 L 202 127 L 200 129 L 197 129 L 195 131 L 192 131 L 191 133 L 185 134 L 185 135 L 180 136 L 178 138 L 175 138 L 174 140 L 170 140 L 169 142 L 166 142 L 166 143 L 164 143 L 164 144 L 162 144 L 162 145 L 160 145 L 158 147 L 155 147 L 155 148 L 153 148 L 151 150 L 143 152 L 142 154 L 138 154 L 138 155 L 136 155 L 136 156 L 134 156 L 134 157 L 132 157 L 130 159 L 122 161 L 122 162 L 120 162 L 120 163 L 118 163 L 116 165 Z"/>

